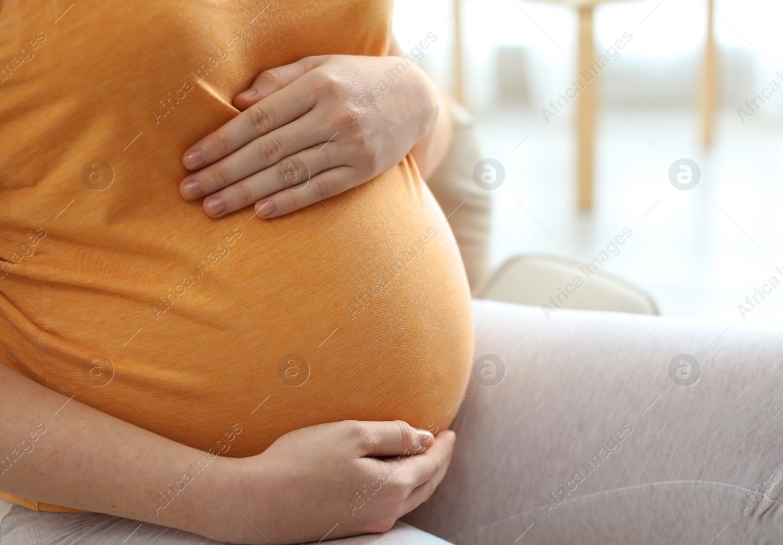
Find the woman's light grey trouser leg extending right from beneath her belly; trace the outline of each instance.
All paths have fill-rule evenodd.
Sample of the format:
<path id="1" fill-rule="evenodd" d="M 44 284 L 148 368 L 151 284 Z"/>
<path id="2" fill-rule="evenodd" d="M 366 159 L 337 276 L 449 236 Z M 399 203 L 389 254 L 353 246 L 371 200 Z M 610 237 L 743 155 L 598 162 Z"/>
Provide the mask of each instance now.
<path id="1" fill-rule="evenodd" d="M 403 520 L 482 545 L 783 543 L 783 331 L 492 301 L 474 320 L 485 385 Z"/>

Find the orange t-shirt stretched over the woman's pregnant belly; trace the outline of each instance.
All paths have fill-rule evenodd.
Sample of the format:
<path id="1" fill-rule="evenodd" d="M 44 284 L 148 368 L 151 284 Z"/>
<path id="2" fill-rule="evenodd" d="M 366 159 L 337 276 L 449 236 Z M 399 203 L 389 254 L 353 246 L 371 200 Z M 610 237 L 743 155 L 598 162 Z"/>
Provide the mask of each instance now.
<path id="1" fill-rule="evenodd" d="M 2 363 L 231 457 L 334 420 L 449 425 L 470 295 L 410 156 L 272 220 L 179 196 L 233 96 L 305 56 L 386 54 L 391 0 L 0 4 Z"/>

